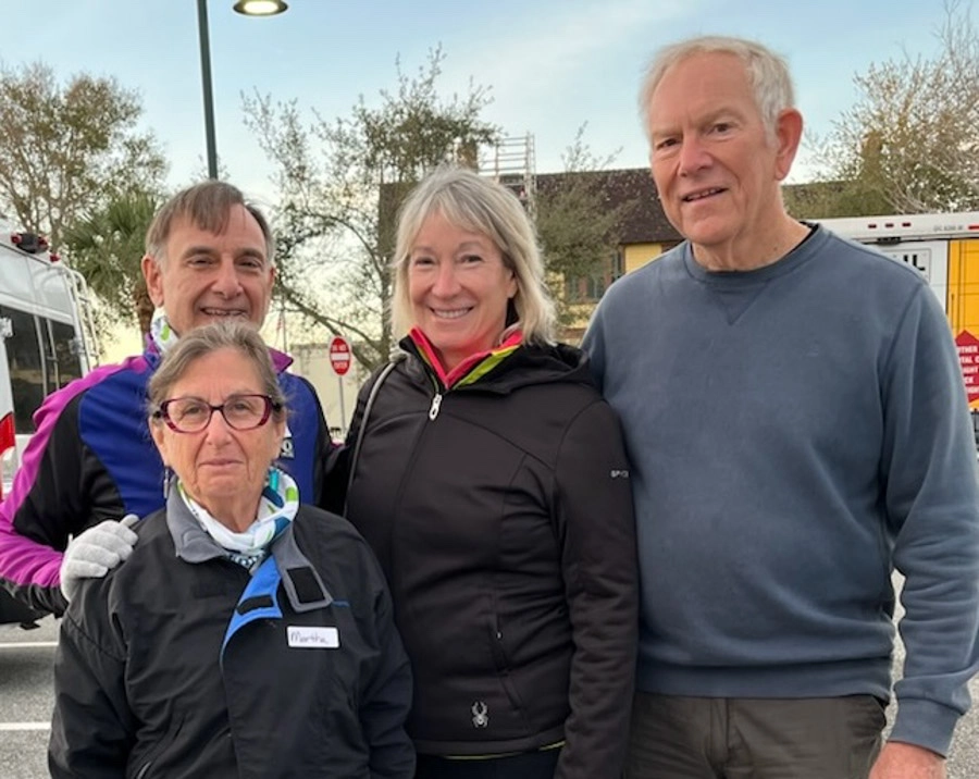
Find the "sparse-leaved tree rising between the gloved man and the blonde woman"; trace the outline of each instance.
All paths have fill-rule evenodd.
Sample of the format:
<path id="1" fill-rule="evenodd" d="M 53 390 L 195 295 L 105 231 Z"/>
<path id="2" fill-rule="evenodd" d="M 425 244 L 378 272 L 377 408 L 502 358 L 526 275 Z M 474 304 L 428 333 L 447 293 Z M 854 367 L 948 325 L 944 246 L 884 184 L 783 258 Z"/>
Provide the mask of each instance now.
<path id="1" fill-rule="evenodd" d="M 432 50 L 413 76 L 396 61 L 397 87 L 374 108 L 361 98 L 348 118 L 315 110 L 305 122 L 297 102 L 243 96 L 245 123 L 275 166 L 282 207 L 280 294 L 331 333 L 352 334 L 355 357 L 372 368 L 392 348 L 391 258 L 397 207 L 411 187 L 461 141 L 498 134 L 480 119 L 487 88 L 444 98 L 445 55 Z M 327 284 L 332 294 L 323 294 Z M 313 295 L 310 290 L 318 290 Z M 329 312 L 329 313 L 327 313 Z"/>

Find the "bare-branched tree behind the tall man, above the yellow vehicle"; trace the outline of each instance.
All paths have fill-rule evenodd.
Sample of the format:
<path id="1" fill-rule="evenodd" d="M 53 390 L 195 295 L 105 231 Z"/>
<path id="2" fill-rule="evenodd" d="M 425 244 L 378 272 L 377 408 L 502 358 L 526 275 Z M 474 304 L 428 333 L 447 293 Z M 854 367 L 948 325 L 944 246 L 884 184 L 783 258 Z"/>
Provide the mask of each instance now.
<path id="1" fill-rule="evenodd" d="M 857 101 L 816 140 L 825 203 L 842 214 L 979 208 L 979 30 L 971 9 L 946 0 L 932 58 L 904 52 L 854 77 Z"/>

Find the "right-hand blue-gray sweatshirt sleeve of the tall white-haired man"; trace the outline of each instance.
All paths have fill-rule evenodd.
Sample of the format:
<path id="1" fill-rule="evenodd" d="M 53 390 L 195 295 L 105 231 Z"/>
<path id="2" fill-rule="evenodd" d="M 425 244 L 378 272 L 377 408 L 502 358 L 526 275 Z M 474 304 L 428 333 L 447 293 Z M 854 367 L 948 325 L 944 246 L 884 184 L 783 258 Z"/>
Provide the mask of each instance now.
<path id="1" fill-rule="evenodd" d="M 946 754 L 979 670 L 976 446 L 949 325 L 924 285 L 882 373 L 881 472 L 907 651 L 890 738 Z"/>

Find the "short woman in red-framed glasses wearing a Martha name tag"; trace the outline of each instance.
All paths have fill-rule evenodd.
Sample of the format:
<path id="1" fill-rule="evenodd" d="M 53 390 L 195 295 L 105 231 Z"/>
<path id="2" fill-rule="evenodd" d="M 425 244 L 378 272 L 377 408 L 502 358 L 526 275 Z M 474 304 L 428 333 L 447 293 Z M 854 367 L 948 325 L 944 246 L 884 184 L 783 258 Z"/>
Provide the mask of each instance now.
<path id="1" fill-rule="evenodd" d="M 411 777 L 384 577 L 272 467 L 286 411 L 261 337 L 187 334 L 149 396 L 166 507 L 65 615 L 51 776 Z"/>

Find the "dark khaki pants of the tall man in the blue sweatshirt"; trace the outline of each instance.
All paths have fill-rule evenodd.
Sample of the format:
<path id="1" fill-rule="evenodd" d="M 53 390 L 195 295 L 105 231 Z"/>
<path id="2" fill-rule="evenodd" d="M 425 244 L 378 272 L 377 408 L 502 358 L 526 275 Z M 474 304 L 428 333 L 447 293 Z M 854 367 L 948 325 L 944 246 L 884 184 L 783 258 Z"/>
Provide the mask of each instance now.
<path id="1" fill-rule="evenodd" d="M 627 779 L 867 779 L 884 706 L 872 695 L 709 698 L 637 692 Z"/>

